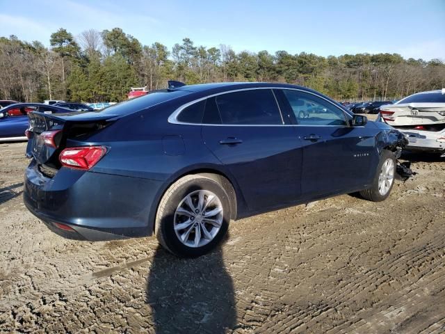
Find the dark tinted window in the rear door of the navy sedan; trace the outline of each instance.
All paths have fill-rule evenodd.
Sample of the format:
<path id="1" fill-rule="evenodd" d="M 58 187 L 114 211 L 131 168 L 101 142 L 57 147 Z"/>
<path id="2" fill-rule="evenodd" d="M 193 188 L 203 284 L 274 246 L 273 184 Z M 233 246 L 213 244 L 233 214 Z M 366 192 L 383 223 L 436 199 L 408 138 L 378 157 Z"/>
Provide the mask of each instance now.
<path id="1" fill-rule="evenodd" d="M 215 97 L 223 124 L 280 125 L 282 118 L 270 89 L 242 90 Z"/>

